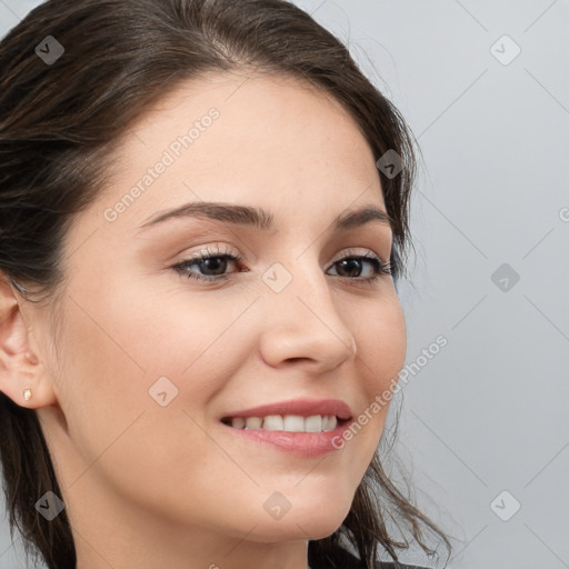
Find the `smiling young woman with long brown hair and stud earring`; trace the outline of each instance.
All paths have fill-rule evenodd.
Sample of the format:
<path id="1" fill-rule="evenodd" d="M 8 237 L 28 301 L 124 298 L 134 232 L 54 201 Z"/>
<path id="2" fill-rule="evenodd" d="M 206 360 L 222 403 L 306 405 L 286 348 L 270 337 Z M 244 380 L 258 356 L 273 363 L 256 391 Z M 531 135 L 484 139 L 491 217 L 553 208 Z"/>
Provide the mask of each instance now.
<path id="1" fill-rule="evenodd" d="M 0 70 L 0 456 L 29 551 L 450 548 L 378 451 L 413 144 L 346 47 L 283 0 L 50 0 Z"/>

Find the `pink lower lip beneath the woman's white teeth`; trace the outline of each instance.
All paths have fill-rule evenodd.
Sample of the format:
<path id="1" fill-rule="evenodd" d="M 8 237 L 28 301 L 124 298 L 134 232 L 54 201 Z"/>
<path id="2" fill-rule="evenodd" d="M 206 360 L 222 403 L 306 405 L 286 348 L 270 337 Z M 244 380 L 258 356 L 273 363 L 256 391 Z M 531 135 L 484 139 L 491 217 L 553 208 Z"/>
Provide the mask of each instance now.
<path id="1" fill-rule="evenodd" d="M 238 437 L 250 441 L 267 445 L 282 452 L 296 457 L 315 458 L 328 455 L 343 448 L 343 431 L 347 430 L 349 420 L 340 421 L 336 429 L 327 432 L 288 432 L 269 431 L 266 429 L 236 429 L 221 423 Z"/>

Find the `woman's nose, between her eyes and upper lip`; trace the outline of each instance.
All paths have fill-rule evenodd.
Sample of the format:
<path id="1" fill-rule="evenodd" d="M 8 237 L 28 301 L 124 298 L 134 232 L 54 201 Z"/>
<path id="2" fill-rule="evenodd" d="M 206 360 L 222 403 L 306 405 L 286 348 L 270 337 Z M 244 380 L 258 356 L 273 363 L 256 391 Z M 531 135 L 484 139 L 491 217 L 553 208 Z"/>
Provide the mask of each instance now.
<path id="1" fill-rule="evenodd" d="M 297 362 L 307 371 L 321 373 L 355 358 L 357 346 L 330 290 L 332 277 L 325 274 L 316 261 L 305 261 L 296 263 L 284 290 L 264 292 L 260 351 L 269 366 Z"/>

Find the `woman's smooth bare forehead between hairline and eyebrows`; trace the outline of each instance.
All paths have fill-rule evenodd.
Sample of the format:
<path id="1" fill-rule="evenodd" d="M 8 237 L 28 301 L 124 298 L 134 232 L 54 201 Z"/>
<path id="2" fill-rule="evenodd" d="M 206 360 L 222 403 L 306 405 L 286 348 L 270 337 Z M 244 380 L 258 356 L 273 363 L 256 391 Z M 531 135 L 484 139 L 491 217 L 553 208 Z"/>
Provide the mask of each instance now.
<path id="1" fill-rule="evenodd" d="M 179 84 L 131 124 L 106 206 L 138 184 L 126 221 L 188 201 L 250 203 L 295 216 L 361 198 L 383 207 L 375 158 L 353 118 L 329 94 L 297 79 L 241 73 Z M 141 184 L 158 162 L 161 173 Z M 383 207 L 385 209 L 385 207 Z"/>

